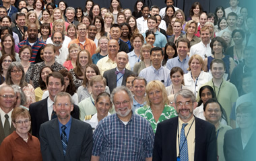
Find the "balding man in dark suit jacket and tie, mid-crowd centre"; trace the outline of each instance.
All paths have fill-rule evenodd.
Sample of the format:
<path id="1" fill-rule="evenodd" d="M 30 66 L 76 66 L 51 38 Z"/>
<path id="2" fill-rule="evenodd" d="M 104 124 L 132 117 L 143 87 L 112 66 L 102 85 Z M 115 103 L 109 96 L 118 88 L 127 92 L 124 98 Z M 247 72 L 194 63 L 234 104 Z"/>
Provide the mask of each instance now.
<path id="1" fill-rule="evenodd" d="M 128 55 L 125 52 L 117 53 L 117 68 L 113 68 L 104 72 L 103 76 L 106 78 L 106 85 L 109 87 L 110 93 L 112 93 L 115 87 L 121 85 L 125 86 L 125 80 L 130 74 L 134 74 L 131 70 L 125 68 L 129 62 Z"/>

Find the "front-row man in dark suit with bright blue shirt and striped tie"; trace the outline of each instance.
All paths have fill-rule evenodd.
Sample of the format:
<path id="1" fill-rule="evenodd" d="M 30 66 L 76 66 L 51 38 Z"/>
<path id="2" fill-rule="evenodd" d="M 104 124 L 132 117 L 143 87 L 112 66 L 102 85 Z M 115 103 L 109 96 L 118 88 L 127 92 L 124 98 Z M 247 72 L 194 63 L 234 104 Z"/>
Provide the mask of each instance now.
<path id="1" fill-rule="evenodd" d="M 90 160 L 92 156 L 92 127 L 73 119 L 72 97 L 69 93 L 58 93 L 53 110 L 57 118 L 40 127 L 40 147 L 43 160 L 77 161 Z"/>

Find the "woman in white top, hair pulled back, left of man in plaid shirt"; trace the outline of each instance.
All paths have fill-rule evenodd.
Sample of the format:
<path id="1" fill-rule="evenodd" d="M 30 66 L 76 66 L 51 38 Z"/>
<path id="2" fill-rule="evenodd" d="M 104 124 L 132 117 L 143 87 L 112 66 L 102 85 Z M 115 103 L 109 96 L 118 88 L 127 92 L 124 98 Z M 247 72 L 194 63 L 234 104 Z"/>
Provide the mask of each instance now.
<path id="1" fill-rule="evenodd" d="M 88 117 L 88 119 L 84 119 L 86 123 L 90 123 L 90 125 L 92 126 L 92 129 L 95 129 L 95 127 L 98 125 L 98 122 L 104 119 L 104 117 L 111 115 L 109 111 L 112 108 L 110 95 L 106 92 L 100 93 L 97 96 L 94 103 L 95 103 L 97 113 L 95 113 L 94 115 L 90 115 L 92 116 L 91 118 Z"/>

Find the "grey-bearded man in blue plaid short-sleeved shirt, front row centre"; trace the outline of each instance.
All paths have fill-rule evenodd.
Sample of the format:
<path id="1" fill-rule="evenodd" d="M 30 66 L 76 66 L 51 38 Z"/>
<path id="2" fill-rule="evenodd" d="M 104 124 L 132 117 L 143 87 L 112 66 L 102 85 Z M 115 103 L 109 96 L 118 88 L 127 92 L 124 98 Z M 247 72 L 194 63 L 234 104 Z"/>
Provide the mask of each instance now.
<path id="1" fill-rule="evenodd" d="M 92 161 L 152 160 L 154 132 L 146 119 L 132 113 L 131 91 L 117 87 L 111 101 L 117 113 L 105 117 L 96 127 Z"/>

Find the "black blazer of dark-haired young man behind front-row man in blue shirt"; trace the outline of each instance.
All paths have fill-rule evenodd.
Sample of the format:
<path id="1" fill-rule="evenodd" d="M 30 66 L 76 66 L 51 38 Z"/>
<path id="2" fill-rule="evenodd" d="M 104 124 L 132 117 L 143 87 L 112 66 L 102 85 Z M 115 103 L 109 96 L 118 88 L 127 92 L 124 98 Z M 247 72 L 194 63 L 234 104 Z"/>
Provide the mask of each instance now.
<path id="1" fill-rule="evenodd" d="M 32 103 L 29 108 L 32 123 L 32 135 L 36 136 L 38 139 L 40 125 L 49 121 L 47 99 L 48 97 L 36 103 Z M 71 116 L 75 119 L 79 119 L 79 107 L 77 105 L 73 105 L 73 107 Z"/>

